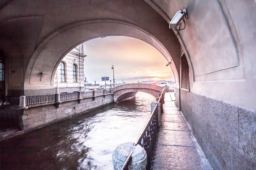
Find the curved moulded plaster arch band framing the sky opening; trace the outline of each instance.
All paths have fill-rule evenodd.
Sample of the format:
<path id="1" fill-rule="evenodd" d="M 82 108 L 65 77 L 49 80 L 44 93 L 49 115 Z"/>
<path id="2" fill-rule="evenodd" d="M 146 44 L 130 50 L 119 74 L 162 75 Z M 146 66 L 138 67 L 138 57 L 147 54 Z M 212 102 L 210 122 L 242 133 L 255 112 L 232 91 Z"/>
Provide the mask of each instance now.
<path id="1" fill-rule="evenodd" d="M 102 30 L 102 28 L 107 28 Z M 94 30 L 94 34 L 91 34 L 91 30 Z M 83 34 L 83 36 L 81 36 Z M 33 88 L 52 88 L 55 71 L 58 67 L 58 63 L 64 58 L 64 56 L 77 45 L 92 40 L 98 37 L 106 36 L 127 36 L 142 40 L 158 51 L 170 62 L 172 59 L 169 51 L 159 42 L 152 34 L 145 31 L 143 28 L 135 26 L 131 23 L 126 23 L 119 20 L 89 20 L 79 23 L 74 23 L 58 31 L 52 33 L 47 37 L 32 55 L 28 67 L 25 72 L 24 86 L 26 89 Z M 65 42 L 65 39 L 70 39 L 69 42 Z M 69 48 L 62 48 L 63 43 L 69 43 Z M 56 57 L 50 57 L 50 61 L 45 65 L 43 61 L 48 55 L 54 55 Z M 49 57 L 48 57 L 49 58 Z M 46 69 L 48 68 L 48 69 Z M 178 82 L 178 72 L 175 64 L 171 64 L 172 71 L 175 76 L 175 81 Z M 47 72 L 44 77 L 44 82 L 40 82 L 36 79 L 37 74 L 40 72 Z"/>

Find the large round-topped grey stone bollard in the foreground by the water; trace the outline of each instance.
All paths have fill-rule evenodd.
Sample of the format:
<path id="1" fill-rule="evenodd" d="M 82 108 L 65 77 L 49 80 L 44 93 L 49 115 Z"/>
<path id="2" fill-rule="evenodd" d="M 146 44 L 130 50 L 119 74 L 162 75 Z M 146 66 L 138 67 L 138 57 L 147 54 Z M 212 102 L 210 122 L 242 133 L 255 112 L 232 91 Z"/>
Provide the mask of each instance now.
<path id="1" fill-rule="evenodd" d="M 121 170 L 126 158 L 131 151 L 134 153 L 131 155 L 131 162 L 129 164 L 129 170 L 146 170 L 147 166 L 147 153 L 139 144 L 134 146 L 133 142 L 126 142 L 119 144 L 112 154 L 112 162 L 114 170 Z"/>

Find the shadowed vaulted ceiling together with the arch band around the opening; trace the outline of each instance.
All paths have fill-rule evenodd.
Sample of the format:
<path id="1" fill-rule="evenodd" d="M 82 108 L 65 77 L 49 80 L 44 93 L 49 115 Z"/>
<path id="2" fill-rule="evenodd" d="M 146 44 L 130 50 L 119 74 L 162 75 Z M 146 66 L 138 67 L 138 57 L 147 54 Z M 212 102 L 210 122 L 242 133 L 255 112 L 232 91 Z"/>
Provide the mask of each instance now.
<path id="1" fill-rule="evenodd" d="M 0 39 L 8 37 L 21 48 L 25 89 L 52 88 L 56 67 L 68 51 L 113 35 L 154 46 L 166 63 L 173 60 L 178 82 L 180 44 L 166 20 L 143 0 L 7 0 L 0 6 L 0 28 L 10 28 L 0 29 Z M 41 72 L 46 73 L 42 81 Z"/>

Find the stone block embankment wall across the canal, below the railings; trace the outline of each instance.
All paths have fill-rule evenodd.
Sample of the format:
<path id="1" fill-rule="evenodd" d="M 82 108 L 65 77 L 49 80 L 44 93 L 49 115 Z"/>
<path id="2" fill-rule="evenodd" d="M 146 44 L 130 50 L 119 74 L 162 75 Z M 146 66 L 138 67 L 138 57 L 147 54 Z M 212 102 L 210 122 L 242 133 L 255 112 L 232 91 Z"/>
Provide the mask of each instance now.
<path id="1" fill-rule="evenodd" d="M 55 104 L 31 107 L 22 115 L 23 130 L 31 130 L 111 103 L 113 103 L 112 95 L 106 94 L 81 99 L 80 103 L 77 99 L 63 101 L 58 108 Z"/>

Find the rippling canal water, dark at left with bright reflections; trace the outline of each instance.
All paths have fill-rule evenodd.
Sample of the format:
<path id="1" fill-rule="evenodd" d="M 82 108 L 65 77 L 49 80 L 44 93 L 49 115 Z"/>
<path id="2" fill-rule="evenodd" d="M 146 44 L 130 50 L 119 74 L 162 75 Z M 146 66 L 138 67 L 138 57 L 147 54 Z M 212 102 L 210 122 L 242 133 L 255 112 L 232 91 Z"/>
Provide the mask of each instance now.
<path id="1" fill-rule="evenodd" d="M 113 170 L 113 150 L 136 141 L 153 101 L 139 92 L 135 98 L 0 142 L 0 169 Z"/>

